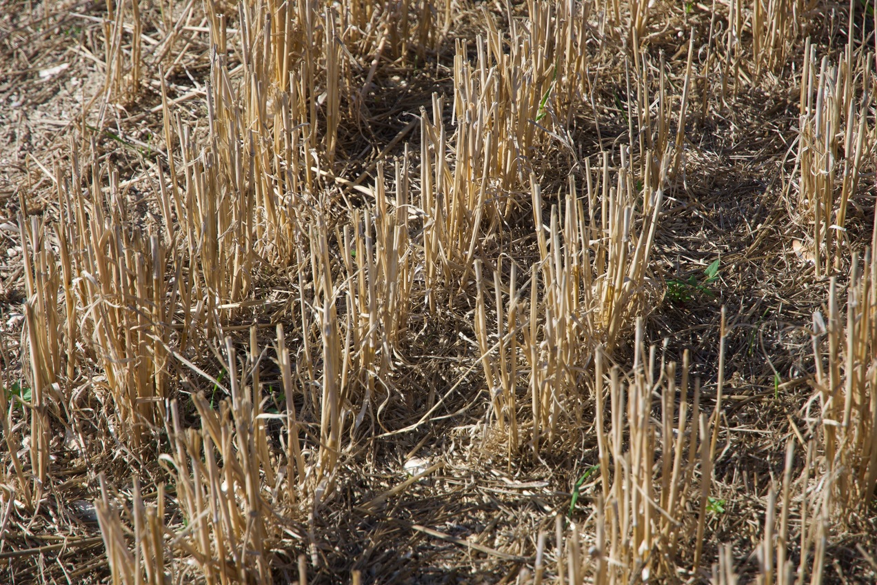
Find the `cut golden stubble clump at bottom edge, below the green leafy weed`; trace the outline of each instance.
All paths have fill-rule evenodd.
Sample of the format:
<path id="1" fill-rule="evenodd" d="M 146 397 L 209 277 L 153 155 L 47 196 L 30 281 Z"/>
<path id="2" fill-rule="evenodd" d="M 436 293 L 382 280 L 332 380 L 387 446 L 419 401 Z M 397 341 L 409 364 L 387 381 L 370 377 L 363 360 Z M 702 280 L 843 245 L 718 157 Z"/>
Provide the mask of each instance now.
<path id="1" fill-rule="evenodd" d="M 638 352 L 645 353 L 645 348 L 638 347 Z M 588 519 L 595 520 L 591 529 L 595 539 L 588 553 L 581 541 L 584 534 L 573 524 L 567 552 L 558 554 L 557 574 L 567 575 L 573 585 L 673 578 L 678 552 L 696 549 L 704 538 L 703 514 L 711 493 L 711 423 L 705 414 L 696 414 L 699 385 L 694 409 L 689 409 L 688 361 L 682 364 L 682 383 L 677 387 L 676 365 L 656 371 L 655 353 L 651 355 L 648 364 L 625 376 L 626 382 L 613 368 L 608 388 L 602 352 L 596 355 L 595 424 L 602 489 L 595 497 L 595 516 Z M 660 396 L 660 422 L 652 417 L 652 389 Z M 678 410 L 674 408 L 677 390 Z M 608 411 L 602 410 L 607 408 L 605 394 L 610 398 Z M 604 416 L 608 421 L 602 420 Z M 698 470 L 700 482 L 695 482 Z M 689 511 L 698 509 L 700 513 Z M 560 547 L 560 517 L 558 525 Z M 695 570 L 697 562 L 695 557 Z"/>

